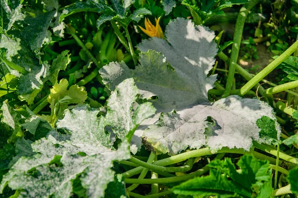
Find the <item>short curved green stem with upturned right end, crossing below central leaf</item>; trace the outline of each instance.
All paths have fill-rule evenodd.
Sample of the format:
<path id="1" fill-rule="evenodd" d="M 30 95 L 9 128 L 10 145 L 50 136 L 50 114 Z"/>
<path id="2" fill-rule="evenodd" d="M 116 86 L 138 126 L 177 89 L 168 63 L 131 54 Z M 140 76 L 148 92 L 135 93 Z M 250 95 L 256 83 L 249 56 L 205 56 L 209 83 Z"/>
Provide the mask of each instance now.
<path id="1" fill-rule="evenodd" d="M 171 172 L 187 172 L 190 171 L 192 168 L 192 165 L 194 163 L 194 158 L 190 158 L 188 159 L 188 163 L 186 163 L 184 166 L 180 166 L 180 167 L 164 167 L 164 166 L 158 166 L 158 165 L 154 165 L 154 164 L 149 164 L 147 162 L 141 161 L 135 157 L 131 157 L 130 161 L 139 164 L 140 166 L 143 166 L 144 168 L 148 168 L 149 170 L 152 171 L 161 171 L 161 172 L 167 172 L 167 173 L 171 173 Z"/>

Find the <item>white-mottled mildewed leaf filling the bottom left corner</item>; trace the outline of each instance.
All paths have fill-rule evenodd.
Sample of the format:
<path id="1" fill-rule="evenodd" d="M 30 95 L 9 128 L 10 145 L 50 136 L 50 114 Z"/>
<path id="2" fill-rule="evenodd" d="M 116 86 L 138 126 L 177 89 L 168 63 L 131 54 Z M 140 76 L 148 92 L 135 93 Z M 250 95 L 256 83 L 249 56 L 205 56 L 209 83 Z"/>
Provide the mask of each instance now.
<path id="1" fill-rule="evenodd" d="M 111 106 L 107 114 L 113 115 L 114 110 L 120 109 L 120 117 L 127 121 L 126 126 L 135 129 L 139 122 L 154 113 L 153 106 L 148 102 L 145 103 L 146 108 L 136 103 L 138 94 L 133 79 L 123 81 L 109 99 L 110 104 L 119 102 L 117 108 Z M 128 97 L 131 99 L 124 99 Z M 138 107 L 133 109 L 135 106 L 141 110 Z M 117 119 L 109 120 L 109 117 L 98 117 L 98 113 L 99 110 L 87 105 L 67 109 L 65 117 L 57 122 L 57 129 L 64 130 L 66 134 L 51 130 L 46 138 L 32 143 L 34 153 L 24 153 L 25 156 L 12 165 L 3 176 L 0 193 L 8 185 L 13 190 L 21 190 L 20 197 L 68 198 L 73 192 L 73 185 L 77 186 L 79 181 L 88 198 L 103 198 L 107 188 L 115 187 L 119 189 L 118 195 L 126 196 L 121 176 L 116 177 L 115 181 L 115 172 L 111 169 L 113 161 L 130 157 L 129 143 L 126 138 L 122 138 L 125 135 L 120 134 L 120 131 L 116 133 L 124 123 L 119 123 Z M 130 123 L 130 119 L 135 122 Z M 12 125 L 15 123 L 13 120 L 7 123 Z M 113 148 L 114 133 L 107 131 L 107 127 L 116 129 L 114 133 L 122 138 L 117 149 Z M 124 128 L 122 133 L 127 134 L 131 128 Z M 107 190 L 107 193 L 112 189 Z"/>

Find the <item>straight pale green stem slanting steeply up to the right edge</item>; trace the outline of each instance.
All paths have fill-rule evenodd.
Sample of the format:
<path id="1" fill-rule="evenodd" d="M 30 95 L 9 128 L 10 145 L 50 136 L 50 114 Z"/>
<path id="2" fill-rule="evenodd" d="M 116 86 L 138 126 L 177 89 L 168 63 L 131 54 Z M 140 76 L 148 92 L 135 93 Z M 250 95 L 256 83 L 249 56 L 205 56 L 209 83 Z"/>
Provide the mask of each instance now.
<path id="1" fill-rule="evenodd" d="M 287 59 L 298 48 L 298 41 L 296 41 L 290 48 L 282 53 L 278 58 L 272 61 L 262 71 L 260 71 L 255 77 L 248 81 L 241 88 L 241 95 L 246 94 L 251 88 L 253 88 L 258 82 L 260 82 L 265 76 L 272 72 L 278 65 L 280 65 L 285 59 Z"/>

